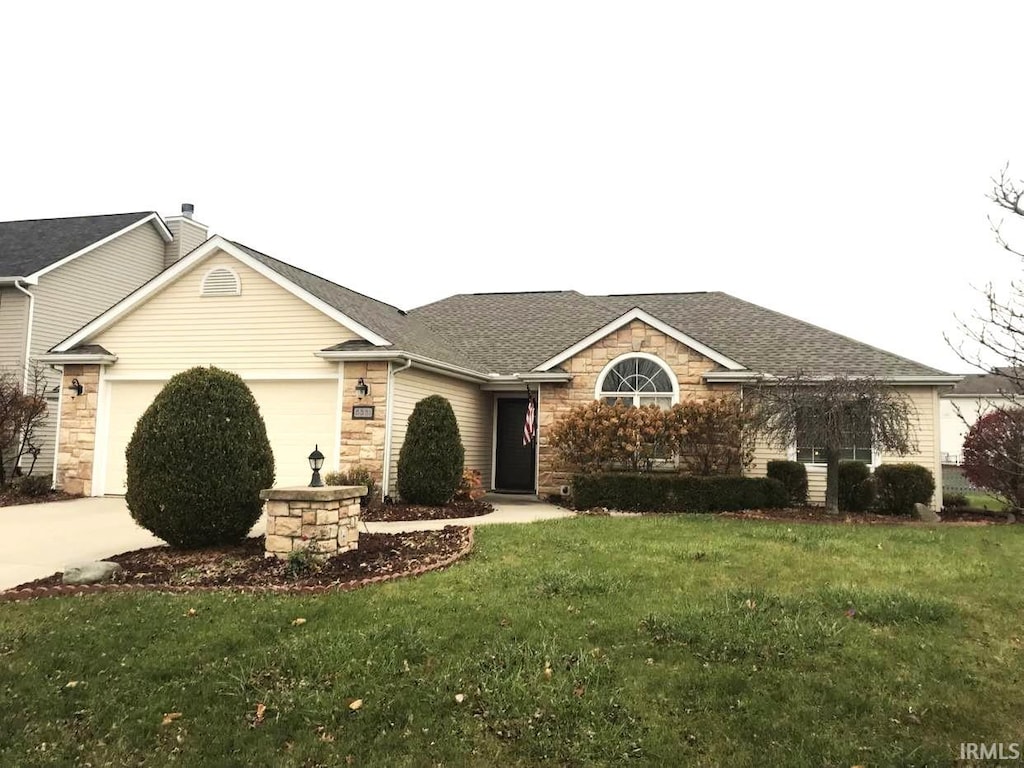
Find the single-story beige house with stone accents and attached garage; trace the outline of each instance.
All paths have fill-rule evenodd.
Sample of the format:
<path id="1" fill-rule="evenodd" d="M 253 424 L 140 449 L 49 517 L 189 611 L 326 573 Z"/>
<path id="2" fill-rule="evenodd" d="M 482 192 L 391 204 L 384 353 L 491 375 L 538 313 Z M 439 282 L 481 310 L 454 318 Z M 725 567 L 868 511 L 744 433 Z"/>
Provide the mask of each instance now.
<path id="1" fill-rule="evenodd" d="M 762 372 L 891 381 L 913 402 L 916 453 L 857 445 L 851 455 L 918 462 L 938 477 L 938 390 L 959 380 L 722 293 L 460 295 L 404 312 L 219 237 L 44 359 L 63 368 L 57 482 L 87 495 L 125 492 L 135 421 L 169 377 L 193 366 L 249 384 L 276 484 L 308 483 L 306 457 L 318 444 L 327 469 L 364 466 L 385 494 L 394 493 L 408 418 L 430 394 L 452 402 L 466 464 L 486 487 L 551 494 L 568 478 L 550 429 L 573 406 L 599 397 L 669 406 L 740 390 Z M 69 389 L 73 378 L 83 395 Z M 523 445 L 527 391 L 538 400 L 538 439 Z M 814 446 L 795 444 L 790 455 L 808 460 L 820 499 Z M 762 446 L 752 472 L 785 456 Z"/>

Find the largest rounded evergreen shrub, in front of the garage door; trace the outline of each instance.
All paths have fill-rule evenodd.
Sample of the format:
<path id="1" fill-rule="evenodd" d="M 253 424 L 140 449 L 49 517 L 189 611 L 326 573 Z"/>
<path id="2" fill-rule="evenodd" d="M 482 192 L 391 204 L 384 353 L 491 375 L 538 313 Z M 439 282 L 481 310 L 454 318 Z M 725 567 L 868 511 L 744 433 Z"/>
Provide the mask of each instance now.
<path id="1" fill-rule="evenodd" d="M 243 539 L 273 485 L 273 454 L 242 379 L 216 368 L 171 377 L 125 452 L 125 501 L 139 525 L 173 547 Z"/>

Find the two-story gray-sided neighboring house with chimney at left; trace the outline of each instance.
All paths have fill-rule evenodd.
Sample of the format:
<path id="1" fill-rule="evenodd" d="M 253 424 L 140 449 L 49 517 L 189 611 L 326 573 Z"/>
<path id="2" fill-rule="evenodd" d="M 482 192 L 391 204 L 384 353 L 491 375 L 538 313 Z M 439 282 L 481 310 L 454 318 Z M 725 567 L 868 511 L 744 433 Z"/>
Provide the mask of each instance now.
<path id="1" fill-rule="evenodd" d="M 0 369 L 30 386 L 41 354 L 206 240 L 191 206 L 182 212 L 166 220 L 142 211 L 0 221 Z M 36 435 L 35 474 L 55 470 L 60 378 L 45 371 L 49 409 Z"/>

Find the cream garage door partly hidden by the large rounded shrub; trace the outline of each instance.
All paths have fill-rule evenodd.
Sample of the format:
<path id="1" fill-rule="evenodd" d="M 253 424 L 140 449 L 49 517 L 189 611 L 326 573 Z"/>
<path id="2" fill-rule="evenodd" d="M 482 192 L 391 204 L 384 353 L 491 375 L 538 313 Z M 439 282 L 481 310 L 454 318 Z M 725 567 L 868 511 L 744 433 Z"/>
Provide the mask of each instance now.
<path id="1" fill-rule="evenodd" d="M 336 380 L 251 381 L 247 382 L 266 423 L 276 468 L 275 485 L 307 485 L 309 462 L 306 457 L 319 444 L 325 467 L 337 465 L 335 410 Z M 163 382 L 110 381 L 110 426 L 106 439 L 104 494 L 124 494 L 125 447 L 135 430 L 135 422 L 163 388 Z"/>

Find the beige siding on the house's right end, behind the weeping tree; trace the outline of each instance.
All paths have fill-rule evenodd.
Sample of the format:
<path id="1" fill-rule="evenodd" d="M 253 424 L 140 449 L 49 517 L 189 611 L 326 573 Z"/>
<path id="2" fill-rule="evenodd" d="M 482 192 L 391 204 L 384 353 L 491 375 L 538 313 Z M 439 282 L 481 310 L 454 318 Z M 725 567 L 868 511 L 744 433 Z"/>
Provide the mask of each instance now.
<path id="1" fill-rule="evenodd" d="M 910 419 L 910 434 L 916 443 L 916 450 L 907 456 L 883 454 L 882 464 L 912 463 L 927 467 L 935 477 L 936 487 L 940 493 L 933 497 L 933 506 L 941 500 L 942 462 L 939 451 L 939 413 L 938 389 L 936 387 L 900 387 L 900 392 L 910 399 L 913 413 Z M 764 476 L 767 473 L 768 462 L 773 459 L 787 459 L 784 449 L 769 446 L 759 441 L 754 453 L 754 463 L 748 474 Z M 824 467 L 808 466 L 807 468 L 808 500 L 811 504 L 825 503 L 825 470 Z"/>

